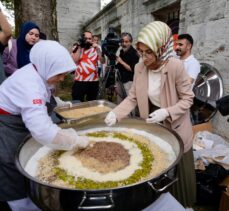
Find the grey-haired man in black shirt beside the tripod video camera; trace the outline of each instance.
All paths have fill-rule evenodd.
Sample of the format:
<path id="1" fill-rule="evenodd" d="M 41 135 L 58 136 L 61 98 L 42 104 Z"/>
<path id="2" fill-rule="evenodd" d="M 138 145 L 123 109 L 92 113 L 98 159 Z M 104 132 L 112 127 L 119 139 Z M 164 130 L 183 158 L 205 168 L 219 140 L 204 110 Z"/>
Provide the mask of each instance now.
<path id="1" fill-rule="evenodd" d="M 133 77 L 134 77 L 134 67 L 138 63 L 139 55 L 137 51 L 132 46 L 133 38 L 130 33 L 121 34 L 121 51 L 119 56 L 116 58 L 117 69 L 120 73 L 120 81 L 123 84 L 123 88 L 120 83 L 116 83 L 117 92 L 117 103 L 121 101 L 128 95 L 131 88 Z M 124 92 L 124 93 L 123 93 Z"/>

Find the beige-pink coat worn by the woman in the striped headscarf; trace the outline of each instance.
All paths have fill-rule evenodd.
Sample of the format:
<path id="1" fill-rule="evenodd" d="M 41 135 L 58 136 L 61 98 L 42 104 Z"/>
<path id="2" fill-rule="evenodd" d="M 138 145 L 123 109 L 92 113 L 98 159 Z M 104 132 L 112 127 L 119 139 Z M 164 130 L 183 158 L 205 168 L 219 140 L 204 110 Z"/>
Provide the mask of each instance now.
<path id="1" fill-rule="evenodd" d="M 193 132 L 189 108 L 193 103 L 194 94 L 189 76 L 182 62 L 170 58 L 161 71 L 161 108 L 166 108 L 170 116 L 164 125 L 176 131 L 183 140 L 184 152 L 192 147 Z M 140 117 L 149 116 L 148 71 L 143 62 L 135 66 L 133 85 L 129 95 L 113 112 L 118 121 L 126 117 L 138 105 Z"/>

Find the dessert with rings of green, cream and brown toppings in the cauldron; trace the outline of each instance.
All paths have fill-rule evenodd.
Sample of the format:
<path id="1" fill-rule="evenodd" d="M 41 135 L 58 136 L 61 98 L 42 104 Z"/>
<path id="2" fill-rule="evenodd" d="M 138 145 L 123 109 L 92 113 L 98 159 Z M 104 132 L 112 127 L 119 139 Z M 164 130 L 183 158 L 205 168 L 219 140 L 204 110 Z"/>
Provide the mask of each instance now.
<path id="1" fill-rule="evenodd" d="M 78 133 L 89 137 L 86 149 L 42 147 L 28 161 L 26 171 L 55 186 L 110 189 L 158 176 L 176 158 L 167 142 L 136 129 L 105 127 Z"/>

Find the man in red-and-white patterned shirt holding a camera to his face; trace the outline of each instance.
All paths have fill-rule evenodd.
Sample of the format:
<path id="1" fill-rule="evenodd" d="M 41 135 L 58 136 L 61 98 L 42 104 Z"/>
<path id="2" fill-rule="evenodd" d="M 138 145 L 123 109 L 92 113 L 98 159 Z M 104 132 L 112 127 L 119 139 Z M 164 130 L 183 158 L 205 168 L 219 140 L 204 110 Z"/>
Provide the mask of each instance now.
<path id="1" fill-rule="evenodd" d="M 96 100 L 99 90 L 97 63 L 104 63 L 99 45 L 93 43 L 92 33 L 86 31 L 72 51 L 77 68 L 72 87 L 72 99 L 83 101 Z"/>

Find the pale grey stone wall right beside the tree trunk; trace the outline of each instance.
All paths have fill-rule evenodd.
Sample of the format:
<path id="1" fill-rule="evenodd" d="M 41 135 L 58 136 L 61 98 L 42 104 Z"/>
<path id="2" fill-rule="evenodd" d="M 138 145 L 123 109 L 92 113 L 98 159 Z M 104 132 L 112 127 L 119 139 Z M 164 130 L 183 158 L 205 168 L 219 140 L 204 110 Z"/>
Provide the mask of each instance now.
<path id="1" fill-rule="evenodd" d="M 77 41 L 85 23 L 100 10 L 100 0 L 57 0 L 57 28 L 62 45 Z"/>

